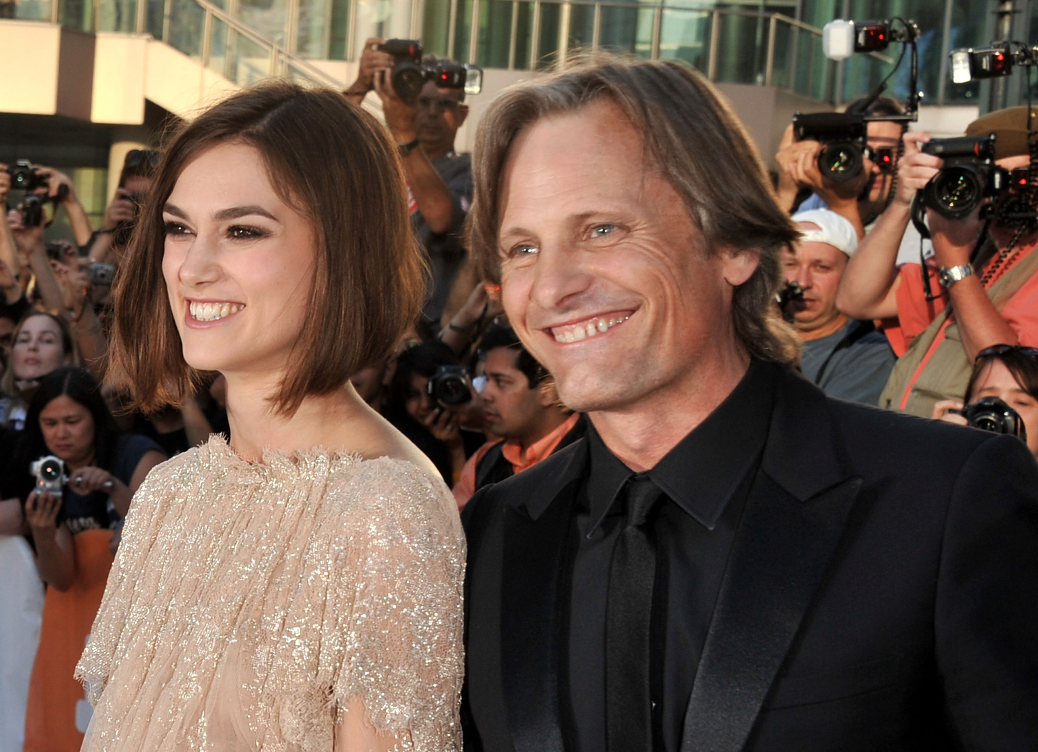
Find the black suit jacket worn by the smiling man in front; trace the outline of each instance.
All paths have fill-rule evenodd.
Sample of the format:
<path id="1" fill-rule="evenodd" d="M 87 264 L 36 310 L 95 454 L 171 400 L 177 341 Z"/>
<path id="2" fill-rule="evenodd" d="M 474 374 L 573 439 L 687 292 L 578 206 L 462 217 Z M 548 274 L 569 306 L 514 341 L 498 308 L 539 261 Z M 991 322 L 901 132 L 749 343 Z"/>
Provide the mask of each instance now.
<path id="1" fill-rule="evenodd" d="M 1030 452 L 780 370 L 682 751 L 1038 749 Z M 467 750 L 565 749 L 566 537 L 586 462 L 581 440 L 466 506 Z"/>

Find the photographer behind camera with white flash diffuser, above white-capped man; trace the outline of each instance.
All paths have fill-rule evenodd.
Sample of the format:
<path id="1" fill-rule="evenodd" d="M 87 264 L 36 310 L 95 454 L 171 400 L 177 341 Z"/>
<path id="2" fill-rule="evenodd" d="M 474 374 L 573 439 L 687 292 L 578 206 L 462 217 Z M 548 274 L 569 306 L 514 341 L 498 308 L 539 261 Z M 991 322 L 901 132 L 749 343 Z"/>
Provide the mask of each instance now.
<path id="1" fill-rule="evenodd" d="M 856 112 L 867 104 L 865 98 L 854 100 L 847 106 L 847 112 Z M 887 96 L 880 96 L 870 104 L 863 114 L 866 117 L 900 115 L 901 106 Z M 867 143 L 872 149 L 897 148 L 901 137 L 901 126 L 884 120 L 870 120 L 866 123 Z M 823 144 L 814 140 L 794 141 L 793 126 L 783 135 L 775 162 L 778 163 L 778 203 L 787 211 L 808 211 L 830 208 L 845 217 L 857 232 L 865 236 L 867 225 L 875 221 L 886 204 L 891 190 L 891 167 L 881 166 L 864 159 L 861 175 L 846 183 L 837 183 L 824 177 L 818 169 L 818 155 Z M 810 190 L 813 194 L 799 206 L 795 206 L 798 194 Z"/>

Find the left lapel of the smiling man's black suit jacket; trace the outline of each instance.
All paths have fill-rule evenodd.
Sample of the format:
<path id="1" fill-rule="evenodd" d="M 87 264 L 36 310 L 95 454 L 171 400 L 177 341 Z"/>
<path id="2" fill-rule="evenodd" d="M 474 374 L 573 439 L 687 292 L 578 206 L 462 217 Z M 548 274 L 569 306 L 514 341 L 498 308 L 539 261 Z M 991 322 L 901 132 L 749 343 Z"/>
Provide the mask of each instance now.
<path id="1" fill-rule="evenodd" d="M 574 451 L 576 450 L 576 451 Z M 563 576 L 573 497 L 586 451 L 568 450 L 567 467 L 504 512 L 501 574 L 501 675 L 516 752 L 563 752 L 559 714 Z"/>

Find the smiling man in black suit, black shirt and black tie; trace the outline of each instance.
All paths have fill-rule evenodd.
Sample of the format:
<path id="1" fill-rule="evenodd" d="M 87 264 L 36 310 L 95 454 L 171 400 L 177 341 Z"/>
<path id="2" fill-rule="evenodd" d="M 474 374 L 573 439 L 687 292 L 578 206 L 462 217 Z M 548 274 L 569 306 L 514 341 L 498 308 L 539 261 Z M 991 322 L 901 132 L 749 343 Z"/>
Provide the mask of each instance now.
<path id="1" fill-rule="evenodd" d="M 1032 744 L 1038 467 L 791 369 L 796 229 L 711 85 L 607 59 L 476 143 L 470 247 L 590 426 L 465 507 L 466 746 Z"/>

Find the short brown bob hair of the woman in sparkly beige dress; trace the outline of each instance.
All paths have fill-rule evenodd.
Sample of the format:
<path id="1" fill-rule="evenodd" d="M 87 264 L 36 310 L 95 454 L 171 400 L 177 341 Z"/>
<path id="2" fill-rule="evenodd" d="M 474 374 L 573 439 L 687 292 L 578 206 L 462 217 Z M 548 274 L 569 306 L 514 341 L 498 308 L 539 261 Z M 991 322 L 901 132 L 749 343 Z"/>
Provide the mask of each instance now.
<path id="1" fill-rule="evenodd" d="M 267 83 L 234 94 L 176 132 L 115 281 L 108 381 L 145 412 L 179 405 L 203 374 L 184 360 L 162 275 L 162 208 L 187 164 L 221 143 L 262 155 L 280 198 L 315 228 L 306 318 L 275 408 L 342 388 L 388 357 L 414 322 L 428 264 L 408 216 L 397 148 L 368 113 L 330 89 Z"/>

